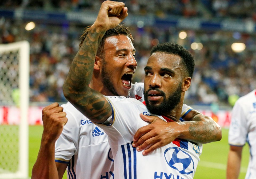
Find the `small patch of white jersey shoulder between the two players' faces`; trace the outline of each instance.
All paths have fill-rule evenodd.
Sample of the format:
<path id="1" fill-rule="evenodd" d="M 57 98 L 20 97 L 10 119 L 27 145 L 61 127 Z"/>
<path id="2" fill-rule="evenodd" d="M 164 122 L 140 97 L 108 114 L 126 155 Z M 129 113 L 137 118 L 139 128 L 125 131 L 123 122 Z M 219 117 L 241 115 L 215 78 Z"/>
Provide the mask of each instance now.
<path id="1" fill-rule="evenodd" d="M 144 83 L 131 84 L 131 90 L 129 92 L 128 97 L 132 97 L 134 99 L 137 99 L 143 102 L 144 101 L 143 90 L 144 90 Z"/>

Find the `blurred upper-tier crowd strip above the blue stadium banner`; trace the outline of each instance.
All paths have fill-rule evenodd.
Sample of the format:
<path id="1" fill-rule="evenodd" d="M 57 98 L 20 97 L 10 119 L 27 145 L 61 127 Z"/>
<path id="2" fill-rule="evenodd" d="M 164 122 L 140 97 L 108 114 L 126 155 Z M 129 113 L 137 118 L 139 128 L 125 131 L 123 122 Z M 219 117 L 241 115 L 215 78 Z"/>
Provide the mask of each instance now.
<path id="1" fill-rule="evenodd" d="M 103 0 L 18 0 L 1 1 L 0 7 L 29 8 L 58 11 L 98 10 Z M 165 14 L 186 17 L 232 17 L 253 18 L 256 20 L 255 0 L 123 0 L 129 12 L 145 15 L 148 13 L 164 16 Z"/>

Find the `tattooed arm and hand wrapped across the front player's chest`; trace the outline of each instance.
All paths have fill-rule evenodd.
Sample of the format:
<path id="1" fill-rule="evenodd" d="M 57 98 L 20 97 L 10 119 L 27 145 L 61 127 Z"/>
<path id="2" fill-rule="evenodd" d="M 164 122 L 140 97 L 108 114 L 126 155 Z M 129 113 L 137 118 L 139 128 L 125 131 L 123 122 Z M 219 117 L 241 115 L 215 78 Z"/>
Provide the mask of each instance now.
<path id="1" fill-rule="evenodd" d="M 185 122 L 165 122 L 157 116 L 140 115 L 151 124 L 138 129 L 134 135 L 133 146 L 143 155 L 171 143 L 174 139 L 185 139 L 195 143 L 210 143 L 222 138 L 221 127 L 213 119 L 196 110 L 190 111 Z M 149 147 L 150 146 L 150 147 Z"/>

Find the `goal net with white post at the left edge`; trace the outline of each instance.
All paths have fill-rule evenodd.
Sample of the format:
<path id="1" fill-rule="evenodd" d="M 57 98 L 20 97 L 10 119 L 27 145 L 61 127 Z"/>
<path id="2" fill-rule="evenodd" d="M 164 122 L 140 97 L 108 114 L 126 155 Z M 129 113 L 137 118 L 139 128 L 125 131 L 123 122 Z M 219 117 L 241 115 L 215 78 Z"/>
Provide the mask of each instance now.
<path id="1" fill-rule="evenodd" d="M 1 179 L 28 178 L 28 107 L 29 43 L 0 44 Z"/>

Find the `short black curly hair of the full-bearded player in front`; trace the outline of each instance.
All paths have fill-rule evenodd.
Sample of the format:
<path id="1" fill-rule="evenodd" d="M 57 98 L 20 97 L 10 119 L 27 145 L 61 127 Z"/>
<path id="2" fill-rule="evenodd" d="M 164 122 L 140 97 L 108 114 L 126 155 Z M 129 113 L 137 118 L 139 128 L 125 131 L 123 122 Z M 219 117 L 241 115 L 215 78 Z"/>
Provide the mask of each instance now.
<path id="1" fill-rule="evenodd" d="M 175 43 L 165 42 L 154 46 L 150 52 L 150 55 L 152 55 L 154 52 L 165 52 L 168 54 L 179 55 L 182 59 L 182 65 L 184 66 L 185 72 L 192 78 L 195 68 L 194 57 L 184 47 Z"/>

